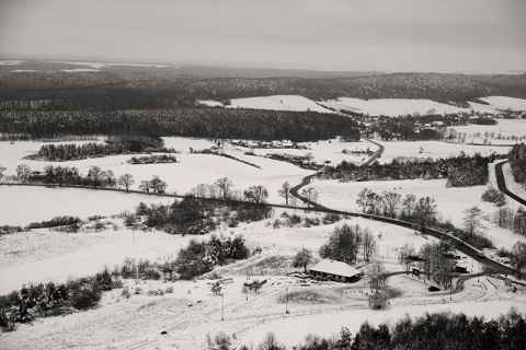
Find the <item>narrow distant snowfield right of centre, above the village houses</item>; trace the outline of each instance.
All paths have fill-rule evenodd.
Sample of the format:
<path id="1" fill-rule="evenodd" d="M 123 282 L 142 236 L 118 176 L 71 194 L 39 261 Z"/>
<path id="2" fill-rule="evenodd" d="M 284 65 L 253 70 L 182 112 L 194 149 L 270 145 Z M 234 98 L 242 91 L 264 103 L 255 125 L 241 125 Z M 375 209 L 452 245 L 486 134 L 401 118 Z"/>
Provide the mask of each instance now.
<path id="1" fill-rule="evenodd" d="M 371 116 L 401 116 L 413 113 L 426 114 L 435 109 L 437 114 L 469 112 L 469 108 L 459 108 L 431 100 L 409 100 L 409 98 L 373 98 L 359 100 L 353 97 L 340 97 L 338 100 L 324 101 L 321 103 L 328 107 L 345 109 L 356 113 L 368 114 Z"/>

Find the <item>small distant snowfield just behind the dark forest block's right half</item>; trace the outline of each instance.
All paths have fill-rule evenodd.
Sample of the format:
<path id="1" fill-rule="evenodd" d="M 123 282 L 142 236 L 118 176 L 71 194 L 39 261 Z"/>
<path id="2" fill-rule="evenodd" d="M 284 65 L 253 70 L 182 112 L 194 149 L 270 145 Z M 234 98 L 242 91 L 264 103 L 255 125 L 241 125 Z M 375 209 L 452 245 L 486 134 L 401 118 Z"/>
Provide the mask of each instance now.
<path id="1" fill-rule="evenodd" d="M 231 100 L 229 108 L 253 108 L 275 110 L 312 110 L 320 113 L 333 113 L 323 108 L 316 102 L 299 95 L 274 95 L 261 97 L 247 97 Z"/>

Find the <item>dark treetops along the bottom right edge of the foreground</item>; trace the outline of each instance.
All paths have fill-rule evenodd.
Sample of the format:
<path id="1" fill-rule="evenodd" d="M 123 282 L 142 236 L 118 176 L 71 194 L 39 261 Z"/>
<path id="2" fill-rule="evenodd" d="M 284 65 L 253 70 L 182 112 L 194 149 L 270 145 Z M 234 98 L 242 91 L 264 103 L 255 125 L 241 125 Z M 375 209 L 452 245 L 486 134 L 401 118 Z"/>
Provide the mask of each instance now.
<path id="1" fill-rule="evenodd" d="M 365 349 L 443 349 L 443 350 L 519 350 L 526 341 L 524 314 L 512 308 L 496 319 L 469 317 L 464 313 L 425 313 L 411 318 L 405 315 L 396 322 L 374 326 L 365 320 L 353 335 L 343 327 L 339 336 L 319 337 L 309 335 L 295 347 L 286 347 L 274 334 L 267 334 L 258 346 L 259 350 L 365 350 Z M 233 350 L 231 338 L 220 332 L 208 336 L 208 350 Z M 249 347 L 241 346 L 240 350 Z"/>

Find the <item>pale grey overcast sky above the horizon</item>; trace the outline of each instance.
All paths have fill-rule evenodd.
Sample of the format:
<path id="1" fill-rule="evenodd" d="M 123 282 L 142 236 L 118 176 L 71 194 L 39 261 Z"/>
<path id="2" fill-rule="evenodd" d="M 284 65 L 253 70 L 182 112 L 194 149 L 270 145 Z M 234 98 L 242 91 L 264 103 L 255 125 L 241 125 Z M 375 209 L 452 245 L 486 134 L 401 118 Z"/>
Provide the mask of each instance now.
<path id="1" fill-rule="evenodd" d="M 526 70 L 526 0 L 0 0 L 0 54 Z"/>

